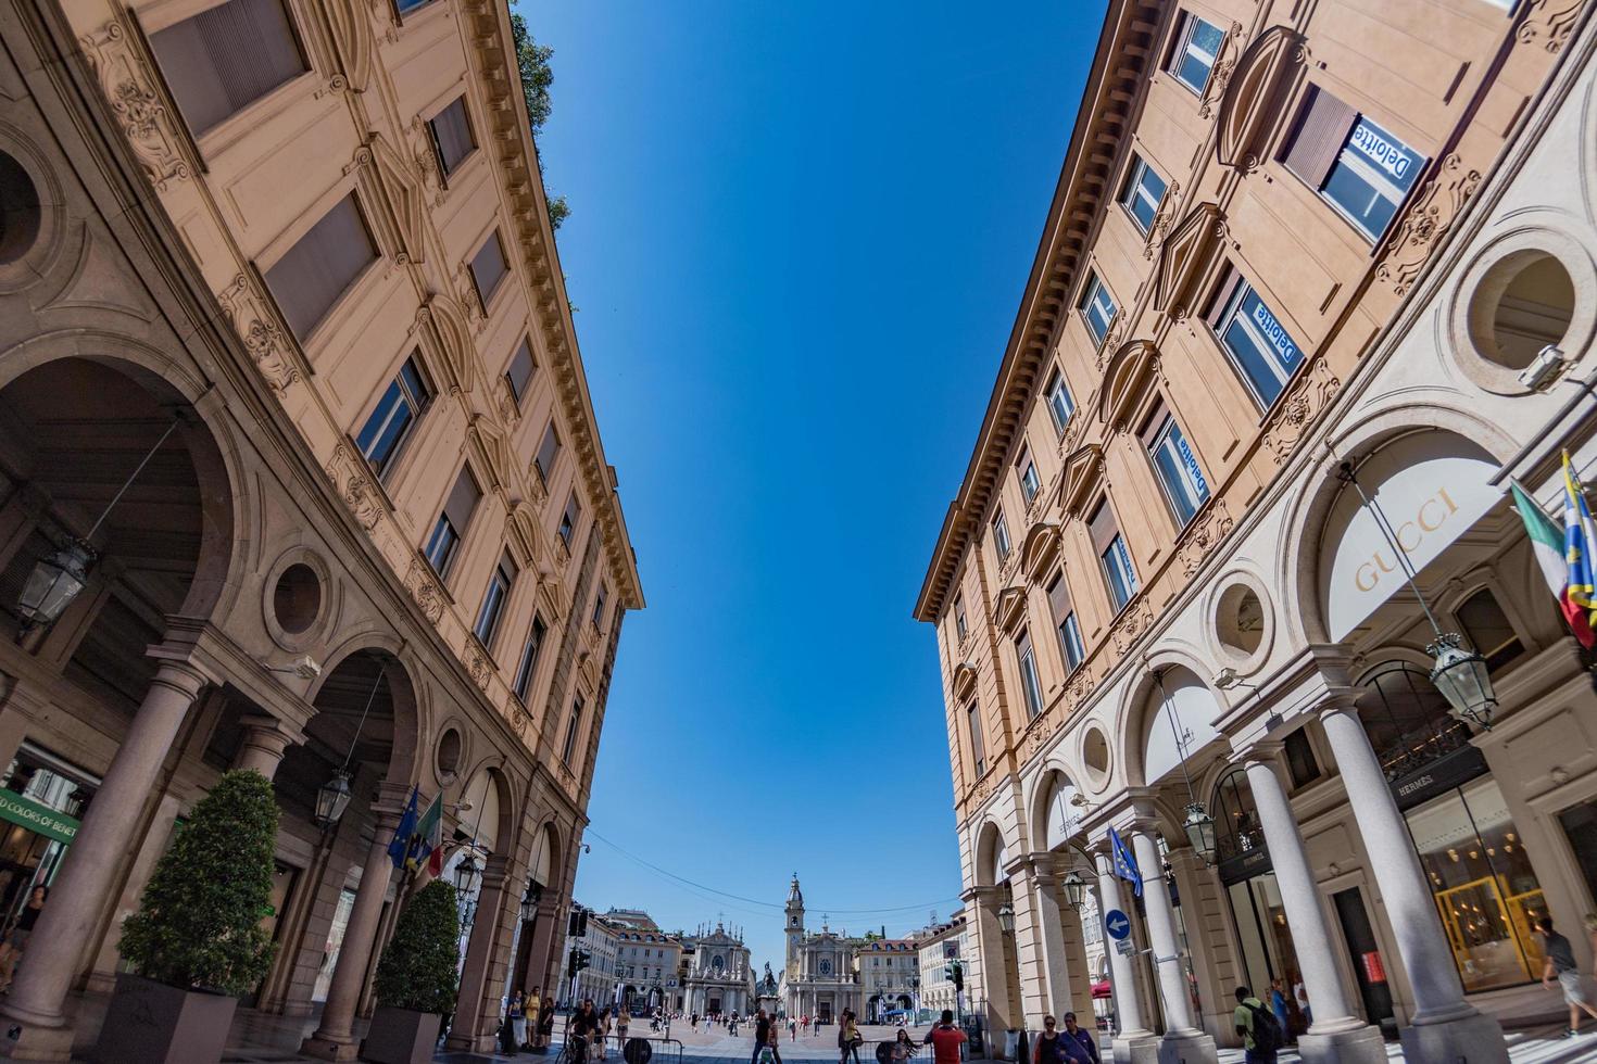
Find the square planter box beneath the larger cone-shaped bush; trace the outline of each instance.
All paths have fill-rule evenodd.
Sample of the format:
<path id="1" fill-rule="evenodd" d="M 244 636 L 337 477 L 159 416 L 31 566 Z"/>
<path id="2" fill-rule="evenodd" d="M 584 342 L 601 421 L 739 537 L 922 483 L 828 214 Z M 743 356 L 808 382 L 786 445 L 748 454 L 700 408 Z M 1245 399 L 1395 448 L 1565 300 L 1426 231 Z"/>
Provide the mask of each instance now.
<path id="1" fill-rule="evenodd" d="M 121 973 L 91 1059 L 97 1064 L 220 1061 L 235 1008 L 235 997 L 182 991 Z"/>

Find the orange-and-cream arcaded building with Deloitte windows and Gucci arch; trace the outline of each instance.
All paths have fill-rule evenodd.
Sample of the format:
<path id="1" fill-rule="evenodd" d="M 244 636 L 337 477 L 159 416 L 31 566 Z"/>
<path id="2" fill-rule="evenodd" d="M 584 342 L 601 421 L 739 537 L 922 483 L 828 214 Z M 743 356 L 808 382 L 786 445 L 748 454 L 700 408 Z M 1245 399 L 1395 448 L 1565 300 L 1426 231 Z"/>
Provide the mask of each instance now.
<path id="1" fill-rule="evenodd" d="M 1310 1061 L 1560 1011 L 1592 676 L 1504 491 L 1594 455 L 1591 6 L 1110 3 L 915 609 L 990 1027 L 1091 1011 L 1070 876 L 1127 917 L 1116 1059 L 1212 1061 L 1271 979 Z"/>

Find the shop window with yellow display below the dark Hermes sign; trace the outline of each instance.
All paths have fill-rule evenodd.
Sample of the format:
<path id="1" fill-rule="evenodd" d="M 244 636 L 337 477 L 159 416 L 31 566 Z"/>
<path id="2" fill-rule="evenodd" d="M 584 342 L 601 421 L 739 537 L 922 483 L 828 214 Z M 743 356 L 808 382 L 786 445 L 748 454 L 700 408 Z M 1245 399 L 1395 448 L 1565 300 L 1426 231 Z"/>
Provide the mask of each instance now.
<path id="1" fill-rule="evenodd" d="M 1541 976 L 1541 884 L 1503 791 L 1477 778 L 1407 814 L 1464 992 Z"/>

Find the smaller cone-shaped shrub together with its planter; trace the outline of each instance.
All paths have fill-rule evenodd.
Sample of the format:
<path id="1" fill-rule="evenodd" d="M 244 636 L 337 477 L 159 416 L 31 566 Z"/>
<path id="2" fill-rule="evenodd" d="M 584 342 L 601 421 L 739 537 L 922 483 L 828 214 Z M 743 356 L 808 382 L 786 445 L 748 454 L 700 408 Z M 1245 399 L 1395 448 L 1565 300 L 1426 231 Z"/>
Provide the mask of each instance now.
<path id="1" fill-rule="evenodd" d="M 423 887 L 399 914 L 377 964 L 377 1010 L 361 1043 L 374 1064 L 426 1064 L 444 1016 L 455 1011 L 460 912 L 442 879 Z"/>

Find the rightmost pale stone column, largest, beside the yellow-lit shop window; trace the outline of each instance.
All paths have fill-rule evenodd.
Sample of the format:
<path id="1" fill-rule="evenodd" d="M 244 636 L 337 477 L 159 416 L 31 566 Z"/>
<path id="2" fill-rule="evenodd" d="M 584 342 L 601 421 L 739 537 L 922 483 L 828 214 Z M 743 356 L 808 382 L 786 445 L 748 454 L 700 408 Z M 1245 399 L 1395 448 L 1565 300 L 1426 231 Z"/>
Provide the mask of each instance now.
<path id="1" fill-rule="evenodd" d="M 1453 951 L 1436 914 L 1431 887 L 1409 837 L 1409 825 L 1393 801 L 1381 763 L 1370 747 L 1353 699 L 1338 699 L 1321 713 L 1326 739 L 1341 769 L 1341 783 L 1370 855 L 1370 873 L 1397 938 L 1397 952 L 1413 991 L 1413 1019 L 1402 1031 L 1410 1061 L 1506 1064 L 1508 1043 L 1496 1019 L 1464 1000 Z M 1311 991 L 1313 994 L 1313 991 Z M 1310 1007 L 1314 1007 L 1313 997 Z"/>

